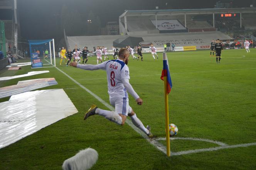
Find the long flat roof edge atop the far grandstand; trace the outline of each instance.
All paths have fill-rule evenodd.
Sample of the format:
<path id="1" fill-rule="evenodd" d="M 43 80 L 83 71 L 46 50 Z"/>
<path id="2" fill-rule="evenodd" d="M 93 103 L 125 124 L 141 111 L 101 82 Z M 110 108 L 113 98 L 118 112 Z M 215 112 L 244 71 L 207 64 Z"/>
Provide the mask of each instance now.
<path id="1" fill-rule="evenodd" d="M 172 9 L 172 10 L 126 10 L 121 17 L 138 15 L 197 15 L 212 13 L 252 13 L 256 8 L 205 8 L 205 9 Z"/>

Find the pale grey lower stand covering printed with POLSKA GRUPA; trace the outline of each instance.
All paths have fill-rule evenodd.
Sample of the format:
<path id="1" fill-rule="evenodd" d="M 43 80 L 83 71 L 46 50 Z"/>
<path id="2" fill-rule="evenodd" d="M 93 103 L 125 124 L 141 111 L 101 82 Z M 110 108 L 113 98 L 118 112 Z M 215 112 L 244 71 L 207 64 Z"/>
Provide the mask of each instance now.
<path id="1" fill-rule="evenodd" d="M 133 35 L 99 35 L 99 36 L 74 36 L 67 37 L 67 42 L 73 49 L 77 46 L 88 47 L 89 50 L 93 50 L 96 46 L 105 46 L 108 49 L 112 49 L 113 42 L 117 39 L 125 40 L 128 37 L 141 37 L 143 41 L 133 41 L 134 44 L 126 44 L 131 47 L 140 45 L 143 43 L 153 43 L 155 47 L 163 47 L 166 42 L 175 43 L 176 47 L 182 46 L 196 46 L 197 49 L 208 48 L 212 39 L 230 39 L 229 36 L 219 31 L 213 32 L 193 32 L 193 33 L 165 33 L 165 34 L 133 34 Z"/>

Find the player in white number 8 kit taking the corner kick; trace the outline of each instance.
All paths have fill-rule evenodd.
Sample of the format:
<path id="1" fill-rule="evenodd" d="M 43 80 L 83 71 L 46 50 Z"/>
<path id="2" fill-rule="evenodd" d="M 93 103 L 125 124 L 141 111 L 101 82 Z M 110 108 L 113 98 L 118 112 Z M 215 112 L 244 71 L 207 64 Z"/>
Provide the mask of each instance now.
<path id="1" fill-rule="evenodd" d="M 83 65 L 72 62 L 70 65 L 73 67 L 78 67 L 85 70 L 105 70 L 108 79 L 108 94 L 109 101 L 115 111 L 108 111 L 99 109 L 96 105 L 92 105 L 84 116 L 86 120 L 89 116 L 94 114 L 99 114 L 106 119 L 117 123 L 118 125 L 124 125 L 127 116 L 130 116 L 132 123 L 143 131 L 148 137 L 153 137 L 150 132 L 150 126 L 145 126 L 137 118 L 133 109 L 129 106 L 129 99 L 127 91 L 133 96 L 138 105 L 142 105 L 143 101 L 134 91 L 133 87 L 129 83 L 130 75 L 129 68 L 126 64 L 129 61 L 129 51 L 122 48 L 118 52 L 118 59 L 105 61 L 98 65 Z"/>

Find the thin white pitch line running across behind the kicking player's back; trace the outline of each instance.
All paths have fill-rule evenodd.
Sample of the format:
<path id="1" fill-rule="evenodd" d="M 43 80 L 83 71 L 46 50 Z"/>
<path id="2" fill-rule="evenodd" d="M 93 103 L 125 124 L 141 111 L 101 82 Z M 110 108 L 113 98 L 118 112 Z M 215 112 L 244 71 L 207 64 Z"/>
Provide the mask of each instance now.
<path id="1" fill-rule="evenodd" d="M 218 72 L 218 71 L 236 71 L 236 70 L 251 70 L 256 68 L 247 68 L 247 69 L 227 69 L 227 70 L 210 70 L 210 71 L 192 71 L 192 72 L 174 72 L 172 74 L 188 74 L 188 73 L 200 73 L 200 72 Z M 138 76 L 130 76 L 130 77 L 147 77 L 147 76 L 161 76 L 161 74 L 151 74 L 151 75 L 138 75 Z M 77 79 L 79 80 L 98 80 L 98 79 L 107 79 L 105 78 L 94 78 L 94 79 Z"/>

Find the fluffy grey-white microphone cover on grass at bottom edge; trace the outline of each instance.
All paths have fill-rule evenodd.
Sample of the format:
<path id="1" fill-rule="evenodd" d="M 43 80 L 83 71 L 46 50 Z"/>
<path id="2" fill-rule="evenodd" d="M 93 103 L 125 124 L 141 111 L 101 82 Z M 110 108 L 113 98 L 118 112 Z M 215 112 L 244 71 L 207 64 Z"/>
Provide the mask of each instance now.
<path id="1" fill-rule="evenodd" d="M 63 170 L 88 170 L 98 160 L 98 153 L 93 148 L 79 151 L 74 157 L 63 162 Z"/>

